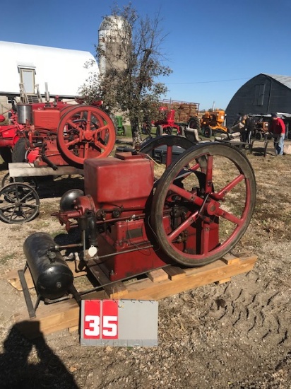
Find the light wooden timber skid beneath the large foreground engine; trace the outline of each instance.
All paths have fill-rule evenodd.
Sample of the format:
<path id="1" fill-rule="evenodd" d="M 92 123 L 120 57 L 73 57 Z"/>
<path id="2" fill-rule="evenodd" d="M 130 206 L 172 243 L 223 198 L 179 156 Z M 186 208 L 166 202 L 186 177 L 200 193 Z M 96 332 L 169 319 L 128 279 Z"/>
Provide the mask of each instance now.
<path id="1" fill-rule="evenodd" d="M 198 288 L 198 286 L 230 281 L 231 277 L 253 269 L 256 260 L 256 255 L 236 257 L 227 254 L 221 260 L 203 267 L 188 269 L 182 269 L 179 266 L 165 267 L 149 272 L 144 279 L 114 282 L 100 291 L 86 294 L 83 298 L 159 300 L 182 291 Z M 78 275 L 82 273 L 75 273 L 75 276 Z M 21 289 L 17 271 L 9 272 L 6 278 L 18 290 Z M 25 276 L 25 278 L 28 286 L 33 286 L 30 276 Z M 25 304 L 24 298 L 23 304 Z M 80 320 L 80 308 L 73 299 L 49 305 L 41 303 L 37 308 L 36 318 L 30 319 L 25 307 L 22 312 L 14 315 L 14 320 L 20 331 L 28 337 L 37 336 L 38 331 L 45 335 L 65 328 L 76 330 Z"/>

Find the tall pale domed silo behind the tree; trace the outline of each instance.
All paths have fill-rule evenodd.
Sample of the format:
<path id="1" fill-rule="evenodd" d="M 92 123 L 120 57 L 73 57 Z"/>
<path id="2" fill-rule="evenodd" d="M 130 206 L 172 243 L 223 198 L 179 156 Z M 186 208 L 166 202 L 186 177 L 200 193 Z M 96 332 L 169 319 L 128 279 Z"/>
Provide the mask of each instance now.
<path id="1" fill-rule="evenodd" d="M 126 52 L 131 42 L 131 30 L 121 16 L 107 16 L 98 30 L 98 46 L 105 52 L 99 56 L 100 76 L 109 69 L 127 67 Z"/>

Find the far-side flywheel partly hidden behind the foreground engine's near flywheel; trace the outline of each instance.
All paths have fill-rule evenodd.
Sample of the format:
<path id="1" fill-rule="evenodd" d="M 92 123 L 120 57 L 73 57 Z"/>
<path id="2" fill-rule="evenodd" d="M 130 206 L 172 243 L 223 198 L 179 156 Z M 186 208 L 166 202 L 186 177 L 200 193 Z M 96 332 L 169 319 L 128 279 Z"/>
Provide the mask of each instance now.
<path id="1" fill-rule="evenodd" d="M 165 171 L 165 168 L 169 166 L 175 158 L 179 157 L 177 151 L 183 152 L 193 145 L 193 142 L 184 137 L 164 135 L 148 141 L 141 147 L 139 153 L 148 154 L 150 158 L 158 163 L 158 168 L 155 169 L 155 176 L 156 179 L 158 179 L 158 177 Z"/>

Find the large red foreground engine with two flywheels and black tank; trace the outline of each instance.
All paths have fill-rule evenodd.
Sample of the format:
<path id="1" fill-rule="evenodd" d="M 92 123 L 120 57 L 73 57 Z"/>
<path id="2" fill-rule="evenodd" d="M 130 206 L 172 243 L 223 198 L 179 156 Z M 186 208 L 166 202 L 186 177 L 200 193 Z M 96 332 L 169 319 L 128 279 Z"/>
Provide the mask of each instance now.
<path id="1" fill-rule="evenodd" d="M 79 301 L 88 293 L 73 286 L 68 250 L 102 286 L 177 263 L 206 265 L 239 242 L 256 201 L 247 157 L 227 144 L 174 138 L 184 148 L 174 161 L 172 149 L 180 141 L 171 136 L 153 139 L 139 153 L 84 161 L 85 194 L 69 190 L 54 213 L 66 231 L 79 231 L 80 240 L 57 245 L 46 233 L 32 233 L 23 245 L 38 302 L 69 294 Z M 158 173 L 148 154 L 161 142 L 167 158 Z"/>

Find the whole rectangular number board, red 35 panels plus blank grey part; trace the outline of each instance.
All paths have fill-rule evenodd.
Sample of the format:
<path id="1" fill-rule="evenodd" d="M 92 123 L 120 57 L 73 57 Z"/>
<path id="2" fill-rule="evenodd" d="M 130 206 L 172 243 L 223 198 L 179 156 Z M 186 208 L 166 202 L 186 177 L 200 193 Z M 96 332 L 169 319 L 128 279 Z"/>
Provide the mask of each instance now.
<path id="1" fill-rule="evenodd" d="M 158 301 L 82 300 L 84 346 L 156 346 Z"/>

